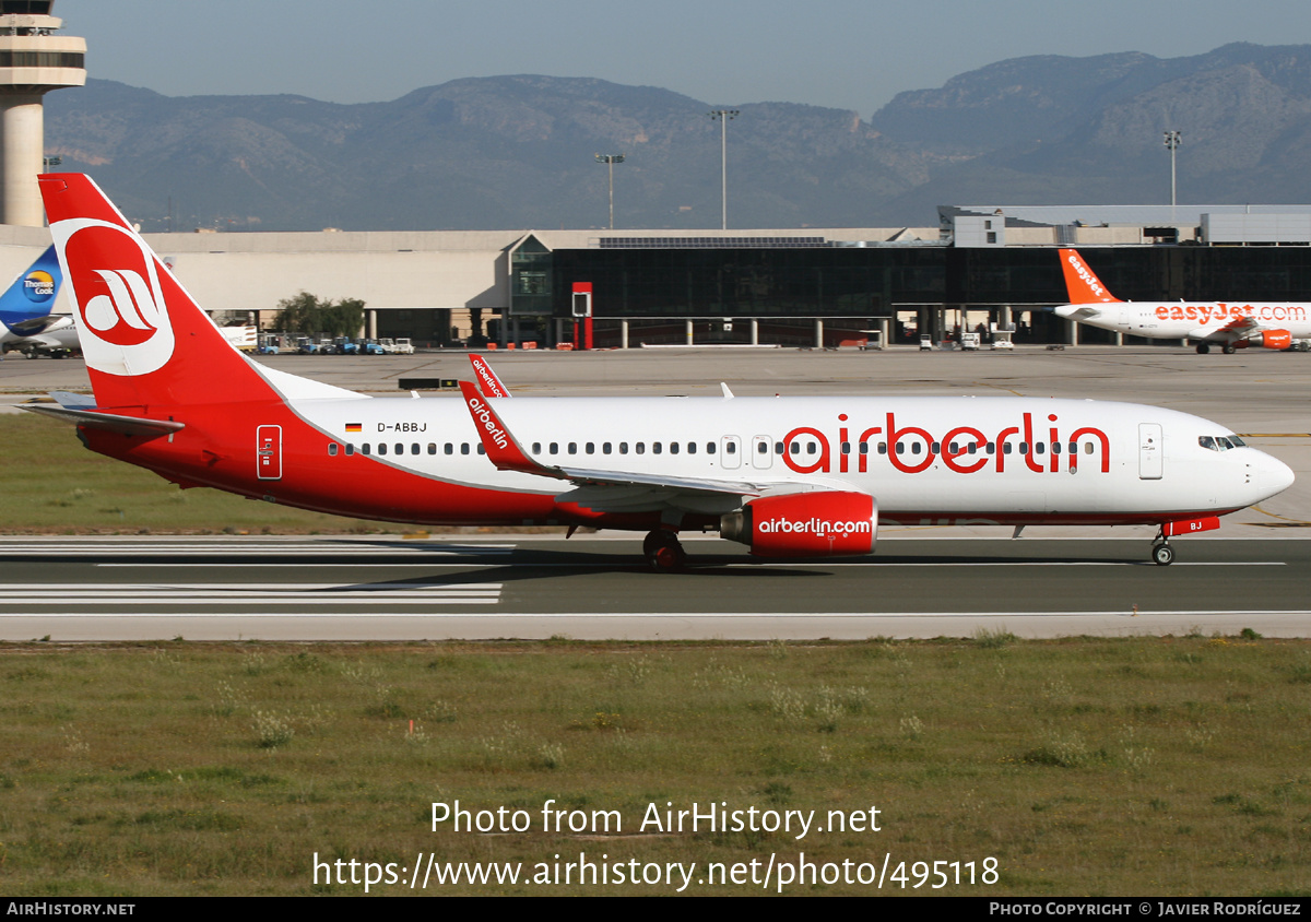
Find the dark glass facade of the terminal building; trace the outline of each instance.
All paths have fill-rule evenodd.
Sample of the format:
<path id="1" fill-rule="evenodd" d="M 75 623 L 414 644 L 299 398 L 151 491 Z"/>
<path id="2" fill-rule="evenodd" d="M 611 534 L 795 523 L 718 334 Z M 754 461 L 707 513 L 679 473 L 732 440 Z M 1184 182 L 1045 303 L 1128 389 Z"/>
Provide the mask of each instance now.
<path id="1" fill-rule="evenodd" d="M 1067 321 L 1042 310 L 1066 302 L 1055 247 L 637 243 L 649 245 L 551 252 L 530 235 L 513 253 L 511 312 L 572 324 L 572 286 L 590 282 L 598 345 L 617 345 L 621 320 L 635 344 L 683 342 L 688 320 L 696 342 L 746 341 L 745 321 L 755 320 L 762 342 L 808 345 L 822 319 L 826 344 L 838 345 L 898 316 L 906 323 L 890 324 L 894 341 L 912 341 L 911 334 L 918 338 L 924 332 L 936 340 L 945 331 L 929 319 L 935 308 L 965 308 L 974 328 L 998 321 L 1008 307 L 1019 342 L 1062 342 L 1070 334 Z M 1082 247 L 1080 252 L 1110 291 L 1126 300 L 1311 302 L 1311 247 Z M 730 328 L 734 320 L 743 323 Z M 536 331 L 526 338 L 541 338 L 548 328 L 539 321 L 519 329 Z M 1079 341 L 1113 342 L 1114 334 L 1082 327 Z"/>

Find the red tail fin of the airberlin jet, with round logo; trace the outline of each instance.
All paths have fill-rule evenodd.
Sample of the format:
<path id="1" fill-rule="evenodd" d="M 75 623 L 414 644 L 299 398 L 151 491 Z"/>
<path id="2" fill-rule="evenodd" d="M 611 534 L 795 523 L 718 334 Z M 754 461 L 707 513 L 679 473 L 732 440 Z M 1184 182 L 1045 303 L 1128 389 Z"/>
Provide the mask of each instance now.
<path id="1" fill-rule="evenodd" d="M 89 177 L 42 176 L 41 195 L 98 405 L 277 399 Z"/>

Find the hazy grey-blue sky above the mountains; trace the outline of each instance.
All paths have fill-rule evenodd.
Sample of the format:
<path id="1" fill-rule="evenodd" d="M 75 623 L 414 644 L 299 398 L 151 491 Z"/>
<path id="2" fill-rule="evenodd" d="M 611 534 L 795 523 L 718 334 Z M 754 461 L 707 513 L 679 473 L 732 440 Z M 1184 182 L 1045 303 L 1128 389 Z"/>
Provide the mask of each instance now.
<path id="1" fill-rule="evenodd" d="M 868 117 L 1006 58 L 1311 42 L 1304 0 L 58 0 L 93 77 L 168 96 L 393 100 L 502 73 Z"/>

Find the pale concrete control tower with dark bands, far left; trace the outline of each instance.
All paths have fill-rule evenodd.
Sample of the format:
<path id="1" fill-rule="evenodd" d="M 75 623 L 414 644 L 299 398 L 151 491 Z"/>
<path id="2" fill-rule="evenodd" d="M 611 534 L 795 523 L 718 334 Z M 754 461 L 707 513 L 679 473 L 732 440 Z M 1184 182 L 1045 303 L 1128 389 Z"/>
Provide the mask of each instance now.
<path id="1" fill-rule="evenodd" d="M 0 0 L 0 223 L 41 227 L 41 97 L 87 83 L 87 39 L 56 37 L 54 0 Z"/>

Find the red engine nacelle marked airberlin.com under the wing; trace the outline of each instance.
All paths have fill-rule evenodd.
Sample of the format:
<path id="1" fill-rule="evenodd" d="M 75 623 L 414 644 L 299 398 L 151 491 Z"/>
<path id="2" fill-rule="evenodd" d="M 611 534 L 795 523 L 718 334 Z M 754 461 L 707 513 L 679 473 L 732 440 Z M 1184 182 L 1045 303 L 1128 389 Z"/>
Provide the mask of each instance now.
<path id="1" fill-rule="evenodd" d="M 871 553 L 878 504 L 867 493 L 825 491 L 762 496 L 720 518 L 720 535 L 762 557 Z"/>

